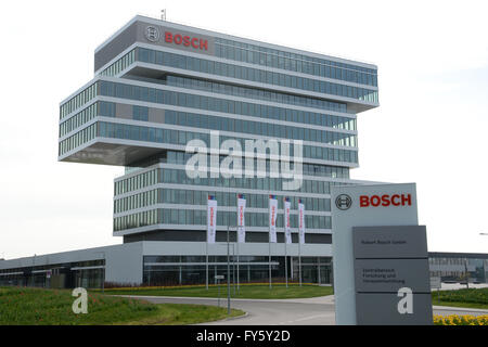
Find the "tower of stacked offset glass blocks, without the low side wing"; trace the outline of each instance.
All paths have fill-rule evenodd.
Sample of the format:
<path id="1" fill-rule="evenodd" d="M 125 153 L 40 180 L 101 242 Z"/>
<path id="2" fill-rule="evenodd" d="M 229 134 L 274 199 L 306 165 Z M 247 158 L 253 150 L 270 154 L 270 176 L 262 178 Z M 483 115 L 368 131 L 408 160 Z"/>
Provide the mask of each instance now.
<path id="1" fill-rule="evenodd" d="M 236 195 L 245 194 L 241 254 L 268 261 L 268 198 L 277 195 L 278 243 L 284 197 L 293 209 L 293 242 L 298 241 L 301 200 L 303 256 L 311 265 L 330 262 L 330 187 L 360 183 L 349 179 L 349 169 L 358 167 L 356 117 L 378 106 L 375 65 L 136 16 L 95 50 L 94 70 L 60 105 L 59 160 L 126 168 L 114 184 L 114 235 L 201 257 L 207 196 L 218 202 L 219 242 L 228 226 L 235 241 Z M 242 149 L 246 140 L 290 140 L 291 147 L 303 141 L 301 184 L 286 190 L 286 178 L 269 174 L 190 178 L 185 165 L 194 153 L 185 152 L 187 144 L 198 139 L 209 149 L 216 131 L 217 146 L 229 139 Z M 271 165 L 268 158 L 267 172 Z M 273 253 L 281 254 L 277 247 Z M 293 247 L 288 255 L 296 253 Z M 154 264 L 169 261 L 164 257 L 144 255 L 144 282 Z M 277 258 L 277 271 L 282 261 Z M 295 262 L 292 257 L 292 272 Z"/>

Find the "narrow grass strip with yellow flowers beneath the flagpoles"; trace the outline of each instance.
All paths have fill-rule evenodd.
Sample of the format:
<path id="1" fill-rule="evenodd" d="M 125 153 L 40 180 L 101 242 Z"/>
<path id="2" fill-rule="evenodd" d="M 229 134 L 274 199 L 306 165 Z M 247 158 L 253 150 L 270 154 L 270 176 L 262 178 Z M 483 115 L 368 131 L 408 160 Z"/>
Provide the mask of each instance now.
<path id="1" fill-rule="evenodd" d="M 138 288 L 112 288 L 105 290 L 105 294 L 114 295 L 151 295 L 151 296 L 183 296 L 183 297 L 218 297 L 219 288 L 210 285 L 208 291 L 205 285 L 181 286 L 181 287 L 138 287 Z M 332 286 L 319 286 L 312 284 L 273 284 L 269 288 L 268 284 L 241 284 L 240 291 L 231 285 L 231 296 L 233 298 L 246 299 L 288 299 L 306 298 L 332 295 Z M 227 284 L 220 285 L 220 297 L 227 297 Z"/>

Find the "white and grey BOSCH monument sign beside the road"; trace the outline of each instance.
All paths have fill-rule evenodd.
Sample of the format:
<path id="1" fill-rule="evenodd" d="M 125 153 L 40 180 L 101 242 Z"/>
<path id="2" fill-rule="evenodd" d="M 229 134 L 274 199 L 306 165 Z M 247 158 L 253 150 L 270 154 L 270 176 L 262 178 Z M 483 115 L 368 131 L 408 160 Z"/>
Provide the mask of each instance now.
<path id="1" fill-rule="evenodd" d="M 401 264 L 403 267 L 404 259 L 393 260 L 380 256 L 378 258 L 384 259 L 378 259 L 378 265 L 374 265 L 374 260 L 362 260 L 361 258 L 355 257 L 352 229 L 355 228 L 356 232 L 360 232 L 361 228 L 359 227 L 419 226 L 415 184 L 335 185 L 332 187 L 331 195 L 336 324 L 363 323 L 368 321 L 368 312 L 362 311 L 364 307 L 363 303 L 356 303 L 356 299 L 357 297 L 360 297 L 360 295 L 369 295 L 368 298 L 373 298 L 373 295 L 368 294 L 372 293 L 368 288 L 361 288 L 358 286 L 359 283 L 356 283 L 359 282 L 358 279 L 362 279 L 362 274 L 358 274 L 358 268 L 363 266 L 364 261 L 367 261 L 368 268 L 377 268 L 380 265 L 395 267 L 397 262 Z M 377 231 L 384 232 L 385 235 L 388 232 L 395 232 L 395 230 L 384 228 L 378 228 Z M 357 237 L 360 235 L 361 234 L 357 234 Z M 415 260 L 420 262 L 420 266 L 424 269 L 425 267 L 423 265 L 426 262 L 425 258 L 427 256 L 425 236 L 423 239 L 422 236 L 413 237 L 411 241 L 404 242 L 409 242 L 409 246 L 411 247 L 420 245 L 421 248 L 425 248 L 425 252 L 422 253 L 422 259 Z M 383 249 L 382 252 L 387 252 L 388 247 L 389 245 L 387 244 L 380 249 Z M 370 256 L 369 258 L 371 259 L 372 257 Z M 388 261 L 390 261 L 390 264 L 387 264 Z M 408 292 L 409 279 L 412 278 L 412 275 L 399 270 L 398 275 L 402 277 L 402 281 L 406 283 L 404 287 L 407 287 L 399 288 L 399 291 Z M 428 279 L 428 272 L 426 278 Z M 391 286 L 391 281 L 388 282 Z M 388 295 L 389 297 L 394 297 L 391 295 L 391 288 L 385 288 L 385 295 L 387 292 L 391 292 Z M 398 295 L 403 293 L 400 292 L 395 291 L 395 297 L 398 297 L 398 300 L 401 299 Z M 408 297 L 407 295 L 404 296 Z M 384 304 L 387 305 L 387 300 L 382 299 L 384 297 L 386 296 L 382 295 L 378 297 L 378 300 L 374 301 L 376 304 L 385 301 Z M 372 303 L 373 300 L 367 300 L 367 303 L 368 301 Z M 398 303 L 396 303 L 396 305 Z M 396 307 L 397 306 L 395 306 L 395 312 L 397 312 Z M 365 309 L 369 310 L 369 308 Z M 361 310 L 361 312 L 357 312 L 357 310 Z M 401 312 L 398 314 L 400 313 Z M 374 311 L 371 314 L 374 314 Z M 360 322 L 358 322 L 358 317 L 361 318 Z M 402 317 L 399 319 L 401 321 Z M 414 320 L 409 320 L 409 322 L 412 321 Z"/>

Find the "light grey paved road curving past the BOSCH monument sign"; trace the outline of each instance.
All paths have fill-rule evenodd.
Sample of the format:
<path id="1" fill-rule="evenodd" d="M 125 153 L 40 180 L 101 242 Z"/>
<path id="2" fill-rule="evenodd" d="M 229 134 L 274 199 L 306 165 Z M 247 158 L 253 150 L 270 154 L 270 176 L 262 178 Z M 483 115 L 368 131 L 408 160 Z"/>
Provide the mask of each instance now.
<path id="1" fill-rule="evenodd" d="M 136 296 L 132 296 L 136 297 Z M 154 304 L 218 305 L 215 298 L 137 296 Z M 220 300 L 227 307 L 227 298 Z M 232 299 L 232 308 L 247 312 L 246 317 L 206 323 L 206 325 L 334 325 L 334 296 L 306 299 Z M 434 314 L 488 314 L 488 310 L 434 307 Z"/>

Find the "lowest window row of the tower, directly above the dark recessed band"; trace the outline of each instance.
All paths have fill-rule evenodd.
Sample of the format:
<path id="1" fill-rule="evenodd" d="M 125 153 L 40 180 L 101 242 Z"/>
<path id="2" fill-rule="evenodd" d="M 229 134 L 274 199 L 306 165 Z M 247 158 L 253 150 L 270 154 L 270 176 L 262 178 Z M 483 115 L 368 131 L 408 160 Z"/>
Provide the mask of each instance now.
<path id="1" fill-rule="evenodd" d="M 235 224 L 236 211 L 218 211 L 217 226 L 227 227 Z M 205 226 L 207 222 L 207 211 L 197 209 L 166 209 L 158 208 L 149 211 L 114 218 L 114 231 L 132 228 L 141 228 L 158 223 L 181 224 L 181 226 Z M 247 227 L 268 227 L 268 213 L 246 213 L 245 224 Z M 298 216 L 291 216 L 292 228 L 298 227 Z M 305 216 L 305 226 L 308 229 L 331 229 L 332 220 L 330 216 Z M 283 228 L 283 216 L 277 218 L 277 228 Z"/>

